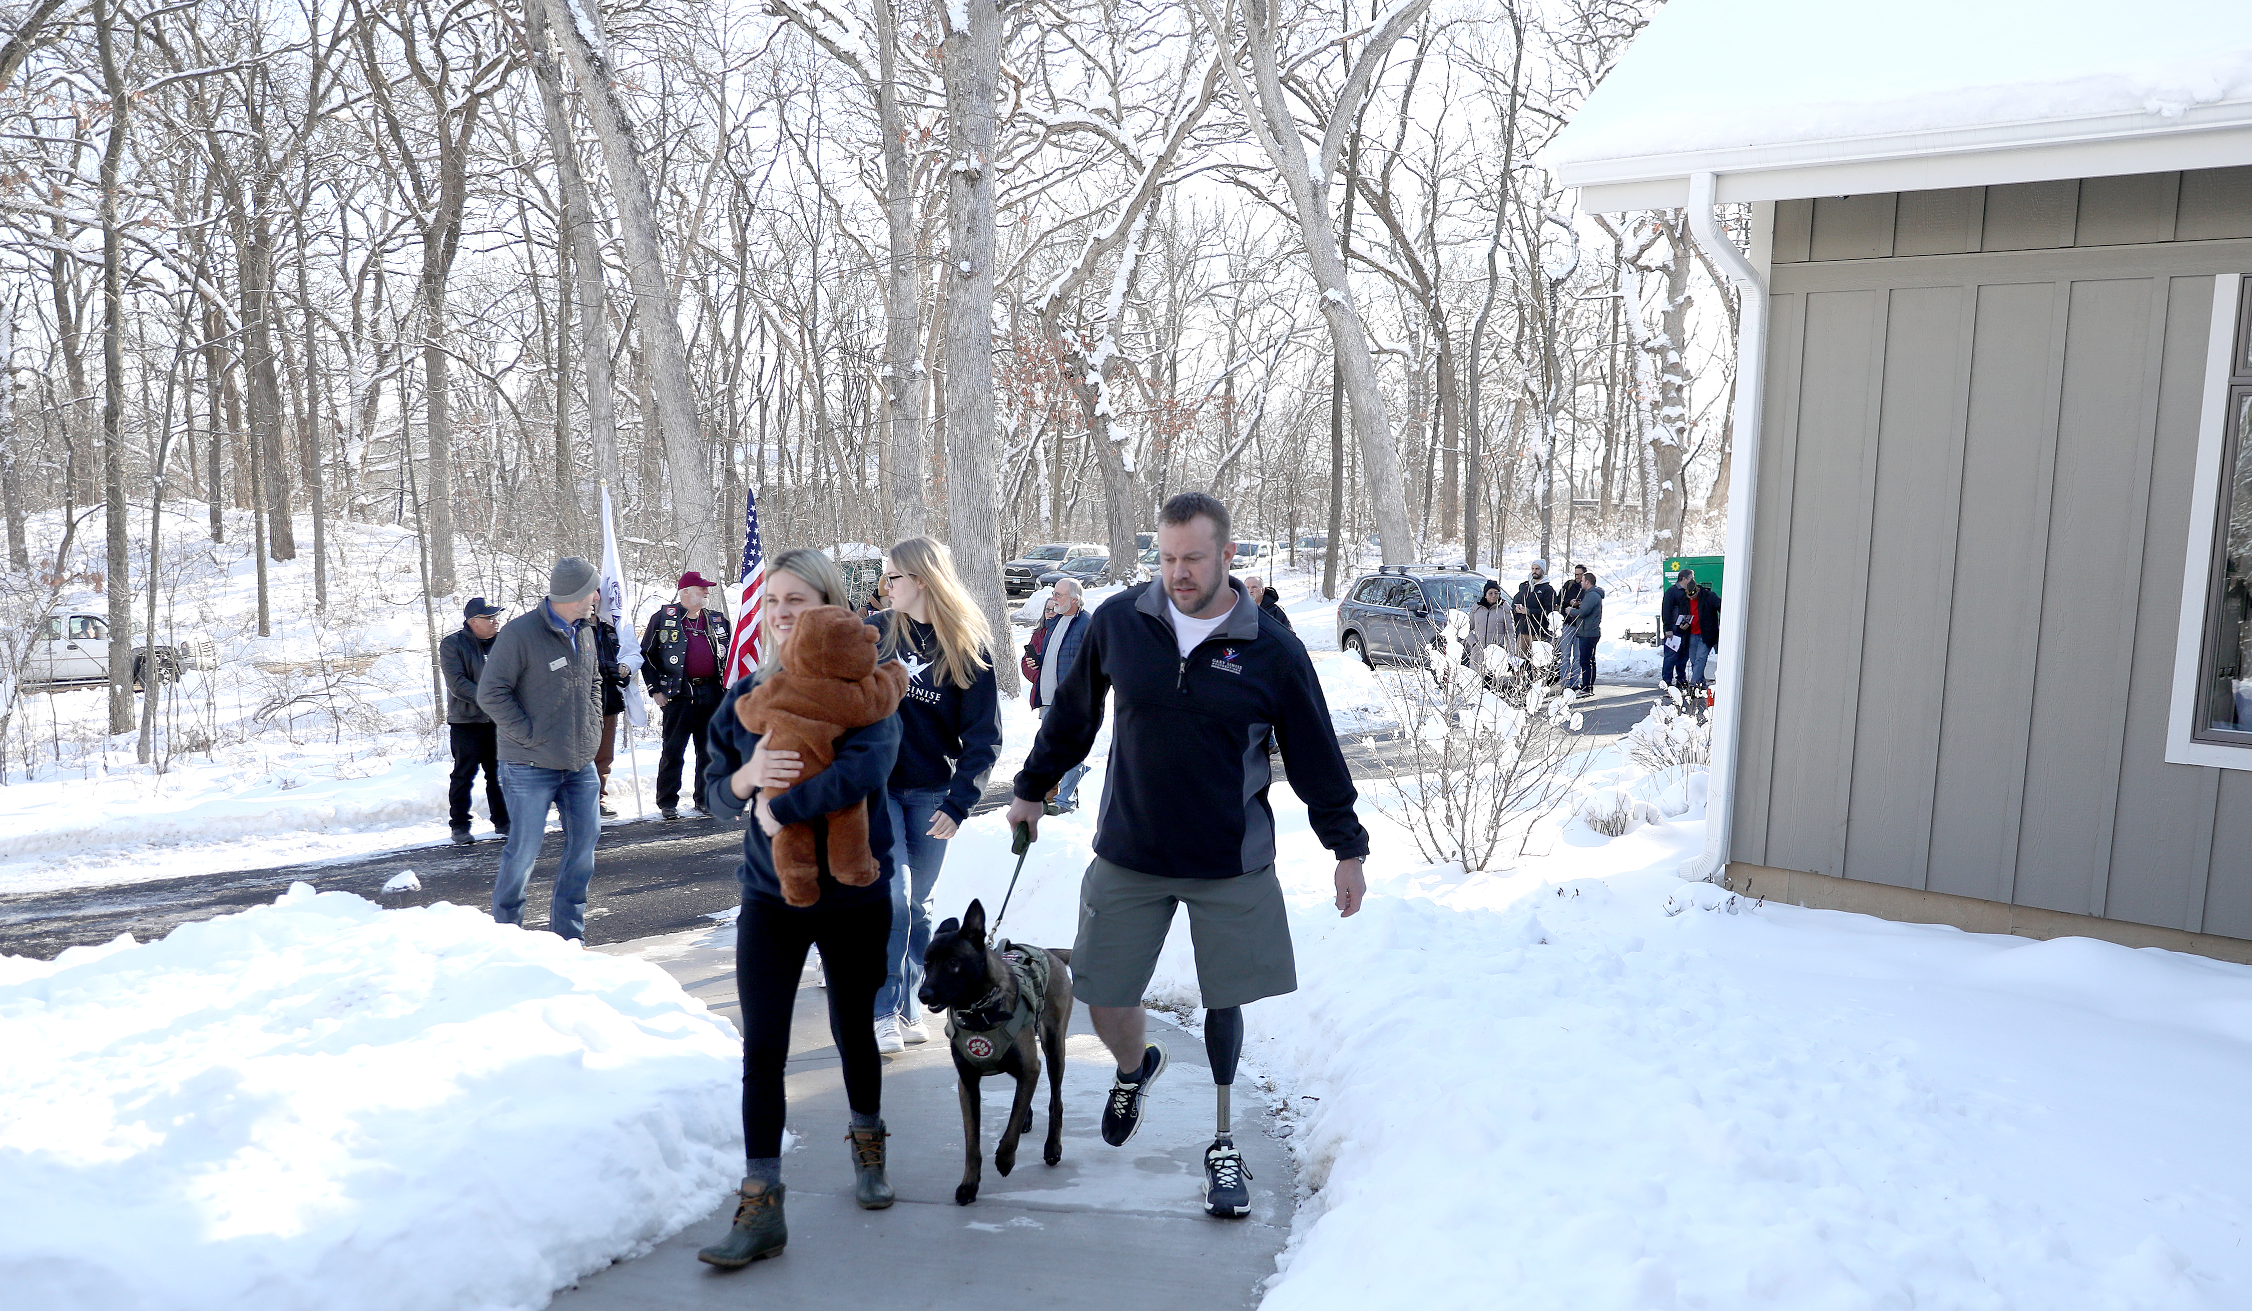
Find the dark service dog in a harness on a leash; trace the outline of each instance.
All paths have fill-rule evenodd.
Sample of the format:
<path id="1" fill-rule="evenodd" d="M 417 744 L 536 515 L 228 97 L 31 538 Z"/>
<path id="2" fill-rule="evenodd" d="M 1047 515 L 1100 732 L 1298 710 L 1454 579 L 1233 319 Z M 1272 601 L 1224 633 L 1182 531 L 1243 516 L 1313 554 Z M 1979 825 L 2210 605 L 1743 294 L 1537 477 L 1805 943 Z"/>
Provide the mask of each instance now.
<path id="1" fill-rule="evenodd" d="M 993 1147 L 993 1167 L 1016 1167 L 1016 1140 L 1031 1129 L 1031 1095 L 1040 1086 L 1047 1050 L 1047 1165 L 1063 1160 L 1063 1029 L 1072 1018 L 1072 953 L 1002 942 L 986 944 L 984 906 L 971 901 L 962 919 L 939 924 L 923 953 L 928 1011 L 950 1011 L 946 1034 L 962 1079 L 962 1187 L 955 1203 L 977 1201 L 977 1086 L 986 1074 L 1016 1079 L 1009 1126 Z"/>

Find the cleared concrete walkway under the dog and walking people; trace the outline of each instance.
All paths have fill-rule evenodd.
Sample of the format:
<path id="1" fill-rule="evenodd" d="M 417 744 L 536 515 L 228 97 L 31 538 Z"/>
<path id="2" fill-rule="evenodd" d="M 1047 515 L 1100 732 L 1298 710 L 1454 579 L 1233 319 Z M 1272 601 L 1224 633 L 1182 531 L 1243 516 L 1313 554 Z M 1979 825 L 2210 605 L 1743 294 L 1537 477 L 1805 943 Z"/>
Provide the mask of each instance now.
<path id="1" fill-rule="evenodd" d="M 601 946 L 662 964 L 689 993 L 739 1020 L 734 928 Z M 1266 1099 L 1236 1083 L 1236 1147 L 1252 1171 L 1252 1214 L 1203 1212 L 1212 1142 L 1212 1068 L 1196 1034 L 1151 1016 L 1151 1038 L 1171 1065 L 1151 1090 L 1142 1133 L 1124 1149 L 1099 1135 L 1110 1056 L 1074 1007 L 1063 1079 L 1063 1162 L 1040 1162 L 1047 1088 L 1034 1097 L 1034 1131 L 1016 1174 L 993 1169 L 1011 1079 L 986 1079 L 980 1126 L 984 1178 L 977 1201 L 955 1205 L 962 1183 L 962 1111 L 946 1036 L 885 1059 L 883 1115 L 899 1203 L 863 1212 L 851 1201 L 844 1083 L 829 1041 L 829 998 L 808 969 L 790 1029 L 790 1131 L 781 1156 L 790 1248 L 743 1270 L 716 1270 L 696 1248 L 734 1219 L 734 1198 L 646 1257 L 588 1275 L 556 1293 L 556 1311 L 725 1306 L 1025 1306 L 1207 1311 L 1254 1306 L 1290 1232 L 1290 1156 L 1268 1133 Z"/>

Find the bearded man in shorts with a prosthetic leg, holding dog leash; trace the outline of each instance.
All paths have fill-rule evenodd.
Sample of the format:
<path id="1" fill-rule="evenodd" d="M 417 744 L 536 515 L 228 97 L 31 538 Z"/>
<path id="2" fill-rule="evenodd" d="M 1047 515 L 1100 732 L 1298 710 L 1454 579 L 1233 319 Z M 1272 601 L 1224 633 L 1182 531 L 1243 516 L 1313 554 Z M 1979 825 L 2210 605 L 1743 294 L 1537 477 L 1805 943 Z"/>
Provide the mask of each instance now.
<path id="1" fill-rule="evenodd" d="M 1288 628 L 1261 615 L 1259 597 L 1227 577 L 1232 559 L 1227 507 L 1203 493 L 1164 502 L 1158 579 L 1094 613 L 1009 806 L 1011 827 L 1038 833 L 1047 788 L 1085 759 L 1108 698 L 1117 723 L 1094 860 L 1079 888 L 1072 991 L 1117 1061 L 1103 1142 L 1124 1147 L 1167 1065 L 1164 1045 L 1146 1038 L 1142 996 L 1173 910 L 1189 908 L 1218 1106 L 1218 1133 L 1205 1151 L 1205 1210 L 1216 1216 L 1250 1210 L 1230 1122 L 1243 1007 L 1297 989 L 1275 876 L 1270 734 L 1315 836 L 1338 856 L 1340 915 L 1360 910 L 1360 860 L 1369 854 L 1313 662 Z"/>

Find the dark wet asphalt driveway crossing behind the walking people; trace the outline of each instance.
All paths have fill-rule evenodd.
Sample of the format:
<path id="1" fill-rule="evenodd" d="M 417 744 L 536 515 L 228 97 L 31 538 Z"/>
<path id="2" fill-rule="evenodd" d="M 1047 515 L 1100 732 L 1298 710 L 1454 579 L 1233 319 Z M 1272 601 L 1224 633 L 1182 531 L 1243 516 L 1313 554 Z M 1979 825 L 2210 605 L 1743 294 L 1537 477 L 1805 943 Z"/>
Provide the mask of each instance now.
<path id="1" fill-rule="evenodd" d="M 1588 746 L 1615 741 L 1660 698 L 1657 687 L 1606 685 L 1579 705 Z M 1353 777 L 1387 777 L 1403 770 L 1401 743 L 1383 734 L 1349 734 L 1342 741 Z M 1009 782 L 993 779 L 971 813 L 1009 804 Z M 500 840 L 482 833 L 471 847 L 408 847 L 378 856 L 275 865 L 225 874 L 151 879 L 115 888 L 65 888 L 54 892 L 0 894 L 0 955 L 54 960 L 63 948 L 108 942 L 119 933 L 149 942 L 194 919 L 263 906 L 291 883 L 322 892 L 356 892 L 383 906 L 491 906 Z M 610 820 L 595 851 L 595 885 L 588 894 L 586 935 L 590 944 L 633 942 L 712 924 L 739 903 L 734 865 L 743 829 L 716 818 Z M 547 921 L 547 890 L 561 856 L 563 833 L 549 829 L 540 863 L 531 869 L 525 924 Z M 392 876 L 412 872 L 417 892 L 383 892 Z"/>

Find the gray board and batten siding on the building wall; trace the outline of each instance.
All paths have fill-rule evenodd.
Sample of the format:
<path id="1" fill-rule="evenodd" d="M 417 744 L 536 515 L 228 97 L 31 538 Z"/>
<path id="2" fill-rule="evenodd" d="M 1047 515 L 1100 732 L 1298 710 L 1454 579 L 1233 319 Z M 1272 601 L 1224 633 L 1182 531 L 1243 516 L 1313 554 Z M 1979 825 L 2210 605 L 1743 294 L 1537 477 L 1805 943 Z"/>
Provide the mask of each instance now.
<path id="1" fill-rule="evenodd" d="M 1775 205 L 1732 860 L 2252 939 L 2164 761 L 2252 167 Z"/>

